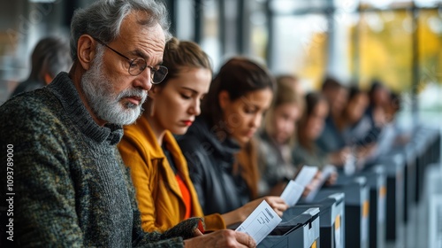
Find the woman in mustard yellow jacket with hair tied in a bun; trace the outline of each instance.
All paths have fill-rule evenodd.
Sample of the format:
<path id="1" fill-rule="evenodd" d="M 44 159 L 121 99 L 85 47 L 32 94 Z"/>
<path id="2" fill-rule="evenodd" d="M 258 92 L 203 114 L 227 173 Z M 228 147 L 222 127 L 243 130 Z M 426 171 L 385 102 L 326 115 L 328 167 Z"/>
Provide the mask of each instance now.
<path id="1" fill-rule="evenodd" d="M 163 66 L 169 73 L 149 90 L 145 112 L 135 125 L 125 128 L 118 145 L 131 168 L 146 231 L 164 231 L 189 217 L 203 216 L 186 159 L 173 135 L 186 133 L 201 112 L 200 102 L 212 76 L 210 59 L 197 44 L 172 39 L 166 43 Z M 205 215 L 206 230 L 225 229 L 251 210 L 242 207 Z"/>

